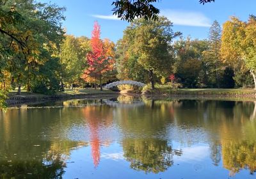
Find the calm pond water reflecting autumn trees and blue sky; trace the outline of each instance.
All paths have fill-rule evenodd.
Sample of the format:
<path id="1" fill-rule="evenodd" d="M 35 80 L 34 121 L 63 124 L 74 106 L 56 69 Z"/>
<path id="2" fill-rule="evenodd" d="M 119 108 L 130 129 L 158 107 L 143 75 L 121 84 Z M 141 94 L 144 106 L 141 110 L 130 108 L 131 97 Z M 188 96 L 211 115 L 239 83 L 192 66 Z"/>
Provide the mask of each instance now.
<path id="1" fill-rule="evenodd" d="M 0 111 L 0 178 L 256 178 L 255 104 L 120 96 Z"/>

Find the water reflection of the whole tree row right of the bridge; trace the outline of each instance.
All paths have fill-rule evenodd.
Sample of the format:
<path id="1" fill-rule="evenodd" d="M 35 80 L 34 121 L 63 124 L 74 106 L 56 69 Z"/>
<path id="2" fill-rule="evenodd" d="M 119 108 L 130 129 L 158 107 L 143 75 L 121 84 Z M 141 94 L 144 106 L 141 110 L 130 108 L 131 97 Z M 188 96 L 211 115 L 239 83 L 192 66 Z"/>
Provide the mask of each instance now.
<path id="1" fill-rule="evenodd" d="M 205 137 L 210 146 L 210 157 L 214 165 L 218 166 L 222 155 L 225 167 L 233 173 L 244 168 L 249 168 L 251 172 L 255 171 L 256 121 L 252 120 L 256 113 L 255 103 L 214 100 L 169 102 L 145 100 L 145 104 L 148 108 L 160 106 L 159 111 L 163 113 L 172 109 L 170 112 L 173 114 L 175 127 L 183 129 L 175 130 L 180 133 L 177 135 L 180 136 L 179 141 L 189 143 L 191 140 L 195 143 L 205 140 L 202 137 L 198 139 L 189 137 L 194 133 L 198 134 L 198 128 L 205 128 L 204 134 L 205 132 L 209 134 Z M 184 130 L 189 131 L 190 135 L 181 137 Z M 245 142 L 230 143 L 234 140 Z M 248 141 L 253 142 L 249 144 Z"/>

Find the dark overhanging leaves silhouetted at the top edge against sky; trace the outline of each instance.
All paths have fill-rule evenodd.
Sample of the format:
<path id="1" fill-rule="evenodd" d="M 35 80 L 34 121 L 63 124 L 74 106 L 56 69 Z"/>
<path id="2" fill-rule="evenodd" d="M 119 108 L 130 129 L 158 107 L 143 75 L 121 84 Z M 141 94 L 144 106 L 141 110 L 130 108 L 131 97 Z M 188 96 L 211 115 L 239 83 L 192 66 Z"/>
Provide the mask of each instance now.
<path id="1" fill-rule="evenodd" d="M 159 0 L 158 0 L 159 1 Z M 215 0 L 199 0 L 200 4 L 211 3 Z M 128 22 L 133 21 L 136 18 L 143 18 L 145 20 L 157 20 L 157 15 L 160 10 L 152 5 L 157 0 L 116 0 L 113 1 L 113 15 L 117 15 L 122 20 Z"/>

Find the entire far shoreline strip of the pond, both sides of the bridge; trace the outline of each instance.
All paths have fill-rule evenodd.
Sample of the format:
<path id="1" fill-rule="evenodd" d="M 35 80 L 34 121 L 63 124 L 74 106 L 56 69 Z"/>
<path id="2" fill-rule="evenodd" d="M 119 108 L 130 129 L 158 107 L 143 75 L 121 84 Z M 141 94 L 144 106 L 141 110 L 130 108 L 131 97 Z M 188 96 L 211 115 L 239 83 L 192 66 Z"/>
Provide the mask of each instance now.
<path id="1" fill-rule="evenodd" d="M 40 104 L 41 102 L 51 102 L 58 100 L 72 100 L 79 98 L 104 98 L 118 95 L 128 95 L 146 98 L 173 98 L 173 99 L 200 99 L 200 100 L 246 100 L 256 101 L 256 90 L 254 89 L 160 89 L 151 90 L 147 93 L 122 93 L 116 91 L 106 91 L 97 93 L 68 94 L 60 93 L 56 95 L 10 95 L 6 100 L 7 105 L 19 104 Z"/>

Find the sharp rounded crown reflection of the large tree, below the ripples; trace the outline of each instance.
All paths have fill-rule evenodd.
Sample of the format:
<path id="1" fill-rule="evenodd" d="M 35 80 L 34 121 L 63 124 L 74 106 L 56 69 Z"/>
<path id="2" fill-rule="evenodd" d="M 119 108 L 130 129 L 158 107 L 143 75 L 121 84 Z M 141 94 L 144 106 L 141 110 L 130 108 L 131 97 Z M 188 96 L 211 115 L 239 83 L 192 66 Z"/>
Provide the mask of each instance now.
<path id="1" fill-rule="evenodd" d="M 131 162 L 131 168 L 159 173 L 173 164 L 173 155 L 182 152 L 173 150 L 167 141 L 159 139 L 124 139 L 124 157 Z"/>

